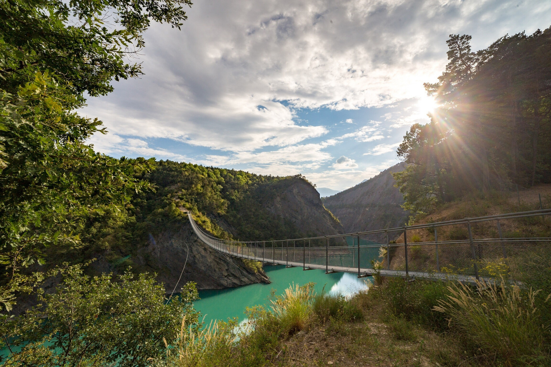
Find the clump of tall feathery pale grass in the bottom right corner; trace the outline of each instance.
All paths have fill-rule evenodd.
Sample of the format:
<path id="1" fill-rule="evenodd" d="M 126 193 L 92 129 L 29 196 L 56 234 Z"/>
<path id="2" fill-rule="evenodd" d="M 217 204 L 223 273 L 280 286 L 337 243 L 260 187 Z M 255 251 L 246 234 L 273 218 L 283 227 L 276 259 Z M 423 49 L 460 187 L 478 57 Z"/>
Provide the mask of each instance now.
<path id="1" fill-rule="evenodd" d="M 439 300 L 434 310 L 446 314 L 452 329 L 471 338 L 485 357 L 520 366 L 527 358 L 547 354 L 534 304 L 539 291 L 522 292 L 505 281 L 499 286 L 482 281 L 476 288 L 458 283 L 448 289 L 451 295 Z"/>

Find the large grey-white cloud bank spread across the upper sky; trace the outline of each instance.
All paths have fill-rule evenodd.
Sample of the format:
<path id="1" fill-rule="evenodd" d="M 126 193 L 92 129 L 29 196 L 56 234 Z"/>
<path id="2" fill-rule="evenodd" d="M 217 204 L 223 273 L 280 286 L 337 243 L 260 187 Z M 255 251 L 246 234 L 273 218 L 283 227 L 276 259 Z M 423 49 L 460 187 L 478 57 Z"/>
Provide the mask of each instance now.
<path id="1" fill-rule="evenodd" d="M 232 152 L 293 145 L 327 131 L 294 123 L 289 106 L 356 109 L 422 96 L 446 64 L 448 34 L 474 33 L 485 46 L 547 26 L 550 8 L 536 0 L 198 2 L 182 31 L 152 25 L 145 76 L 117 83 L 84 111 L 123 135 Z"/>

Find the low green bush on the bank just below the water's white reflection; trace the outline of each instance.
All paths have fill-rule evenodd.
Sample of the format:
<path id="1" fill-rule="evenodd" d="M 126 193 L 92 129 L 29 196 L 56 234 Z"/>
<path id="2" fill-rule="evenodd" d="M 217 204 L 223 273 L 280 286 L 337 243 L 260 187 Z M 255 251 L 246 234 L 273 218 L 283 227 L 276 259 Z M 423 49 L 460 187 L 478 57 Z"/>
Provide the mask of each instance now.
<path id="1" fill-rule="evenodd" d="M 312 309 L 324 323 L 331 319 L 359 321 L 364 318 L 360 307 L 355 302 L 350 302 L 339 294 L 331 295 L 322 292 L 316 295 Z"/>

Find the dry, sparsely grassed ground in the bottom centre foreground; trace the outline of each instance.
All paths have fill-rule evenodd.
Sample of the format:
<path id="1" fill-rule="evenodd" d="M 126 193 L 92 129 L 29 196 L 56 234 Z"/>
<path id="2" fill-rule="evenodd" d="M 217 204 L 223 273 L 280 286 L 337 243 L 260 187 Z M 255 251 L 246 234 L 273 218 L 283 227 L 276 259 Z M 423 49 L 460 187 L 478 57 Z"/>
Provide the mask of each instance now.
<path id="1" fill-rule="evenodd" d="M 404 332 L 405 331 L 405 332 Z M 436 366 L 458 365 L 462 350 L 444 334 L 386 319 L 382 304 L 364 308 L 362 322 L 316 322 L 283 341 L 285 353 L 271 365 Z M 468 366 L 468 363 L 462 365 Z"/>

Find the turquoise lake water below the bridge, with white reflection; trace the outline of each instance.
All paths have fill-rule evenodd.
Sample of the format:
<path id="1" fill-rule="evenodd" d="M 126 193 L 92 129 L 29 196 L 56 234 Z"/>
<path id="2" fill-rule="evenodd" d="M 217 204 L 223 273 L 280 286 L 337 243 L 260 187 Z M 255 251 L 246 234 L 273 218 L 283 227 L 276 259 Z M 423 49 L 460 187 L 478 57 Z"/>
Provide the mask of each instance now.
<path id="1" fill-rule="evenodd" d="M 272 281 L 271 284 L 250 284 L 237 288 L 208 289 L 199 291 L 201 299 L 195 302 L 195 309 L 205 316 L 208 325 L 211 320 L 224 320 L 228 317 L 245 319 L 246 307 L 255 305 L 269 305 L 268 297 L 272 289 L 276 294 L 282 294 L 291 284 L 316 283 L 315 291 L 325 290 L 332 294 L 351 295 L 361 289 L 369 287 L 371 277 L 358 278 L 355 274 L 329 273 L 323 270 L 302 270 L 302 267 L 288 267 L 284 265 L 264 266 L 264 271 Z"/>

